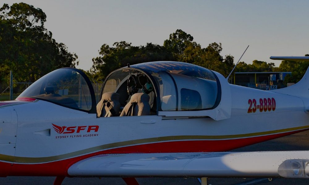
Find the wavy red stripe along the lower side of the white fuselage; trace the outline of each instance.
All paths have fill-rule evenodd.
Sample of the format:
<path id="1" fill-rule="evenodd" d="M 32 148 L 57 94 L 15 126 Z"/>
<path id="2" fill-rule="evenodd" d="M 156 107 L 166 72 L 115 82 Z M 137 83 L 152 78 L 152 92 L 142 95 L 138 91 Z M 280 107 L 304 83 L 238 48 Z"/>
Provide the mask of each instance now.
<path id="1" fill-rule="evenodd" d="M 71 165 L 85 158 L 99 154 L 220 152 L 233 150 L 302 131 L 305 130 L 241 139 L 171 141 L 125 146 L 42 164 L 13 164 L 8 162 L 0 162 L 0 176 L 68 176 L 67 170 Z"/>

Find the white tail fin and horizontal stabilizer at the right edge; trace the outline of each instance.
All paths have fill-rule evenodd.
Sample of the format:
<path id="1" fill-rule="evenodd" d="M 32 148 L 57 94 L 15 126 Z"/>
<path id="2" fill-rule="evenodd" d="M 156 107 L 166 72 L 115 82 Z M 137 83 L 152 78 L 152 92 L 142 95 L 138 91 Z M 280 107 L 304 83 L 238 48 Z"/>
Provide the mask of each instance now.
<path id="1" fill-rule="evenodd" d="M 273 60 L 296 60 L 309 61 L 309 56 L 271 56 Z M 309 97 L 309 68 L 303 78 L 294 85 L 286 88 L 271 90 L 281 94 L 287 94 L 295 97 Z"/>

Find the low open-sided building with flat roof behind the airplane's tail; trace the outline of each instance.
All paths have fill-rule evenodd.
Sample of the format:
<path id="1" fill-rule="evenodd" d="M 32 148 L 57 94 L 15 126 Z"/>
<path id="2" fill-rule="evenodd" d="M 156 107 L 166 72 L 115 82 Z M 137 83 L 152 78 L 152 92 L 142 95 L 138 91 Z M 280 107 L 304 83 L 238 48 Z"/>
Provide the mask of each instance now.
<path id="1" fill-rule="evenodd" d="M 232 84 L 262 90 L 284 88 L 283 80 L 292 72 L 235 72 Z"/>

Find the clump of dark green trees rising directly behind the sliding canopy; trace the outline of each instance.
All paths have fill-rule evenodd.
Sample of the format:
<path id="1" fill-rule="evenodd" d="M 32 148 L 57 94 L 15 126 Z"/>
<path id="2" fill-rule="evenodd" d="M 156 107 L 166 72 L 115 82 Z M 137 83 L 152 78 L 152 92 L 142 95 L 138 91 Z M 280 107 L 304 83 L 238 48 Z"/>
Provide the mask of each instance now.
<path id="1" fill-rule="evenodd" d="M 125 41 L 116 42 L 113 47 L 103 44 L 99 54 L 93 58 L 91 73 L 95 78 L 104 79 L 115 69 L 142 62 L 182 61 L 218 71 L 227 76 L 234 64 L 234 57 L 220 55 L 221 43 L 211 43 L 207 48 L 193 42 L 193 37 L 182 30 L 176 30 L 164 41 L 163 46 L 147 43 L 146 46 L 132 46 Z"/>

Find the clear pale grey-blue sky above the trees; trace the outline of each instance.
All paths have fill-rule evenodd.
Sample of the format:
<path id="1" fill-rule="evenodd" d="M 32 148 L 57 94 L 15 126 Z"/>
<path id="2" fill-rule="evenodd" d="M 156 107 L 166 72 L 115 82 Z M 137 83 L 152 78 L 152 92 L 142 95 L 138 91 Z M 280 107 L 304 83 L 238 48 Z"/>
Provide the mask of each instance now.
<path id="1" fill-rule="evenodd" d="M 18 1 L 0 0 L 11 6 Z M 181 29 L 207 47 L 222 43 L 221 55 L 236 63 L 274 62 L 270 56 L 309 54 L 309 1 L 285 0 L 23 0 L 42 9 L 45 27 L 58 43 L 78 55 L 77 68 L 89 70 L 103 44 L 163 45 Z"/>

